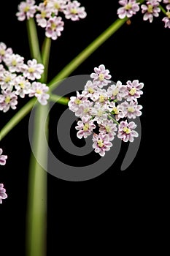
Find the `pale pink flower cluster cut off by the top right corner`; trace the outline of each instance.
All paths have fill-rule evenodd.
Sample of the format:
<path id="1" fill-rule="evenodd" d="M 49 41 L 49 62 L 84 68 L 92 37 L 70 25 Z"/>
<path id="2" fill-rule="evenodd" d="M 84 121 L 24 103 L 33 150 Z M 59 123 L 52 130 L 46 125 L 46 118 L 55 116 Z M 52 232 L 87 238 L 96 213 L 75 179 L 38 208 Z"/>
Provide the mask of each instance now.
<path id="1" fill-rule="evenodd" d="M 161 6 L 161 2 L 165 4 L 166 10 Z M 119 4 L 122 6 L 117 10 L 117 15 L 120 19 L 131 18 L 136 12 L 139 12 L 141 7 L 144 14 L 143 20 L 149 20 L 152 23 L 153 18 L 158 17 L 162 10 L 166 14 L 166 17 L 162 19 L 165 23 L 165 28 L 170 28 L 170 0 L 146 0 L 140 7 L 140 2 L 136 0 L 120 0 Z"/>

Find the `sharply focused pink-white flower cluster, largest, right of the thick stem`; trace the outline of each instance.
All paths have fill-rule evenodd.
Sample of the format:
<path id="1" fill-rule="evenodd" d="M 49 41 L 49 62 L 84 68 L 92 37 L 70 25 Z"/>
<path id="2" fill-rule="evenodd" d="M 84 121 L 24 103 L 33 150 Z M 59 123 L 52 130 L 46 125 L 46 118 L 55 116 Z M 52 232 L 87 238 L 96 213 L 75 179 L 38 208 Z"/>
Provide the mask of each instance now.
<path id="1" fill-rule="evenodd" d="M 138 133 L 134 130 L 134 121 L 127 118 L 141 116 L 142 105 L 138 99 L 143 94 L 143 83 L 139 80 L 128 80 L 125 85 L 120 81 L 111 84 L 111 75 L 104 65 L 94 68 L 85 89 L 76 97 L 70 97 L 69 109 L 80 120 L 77 122 L 77 137 L 87 138 L 93 133 L 93 148 L 96 153 L 104 157 L 109 151 L 112 140 L 117 137 L 123 141 L 133 142 Z M 107 86 L 107 89 L 104 89 Z"/>

